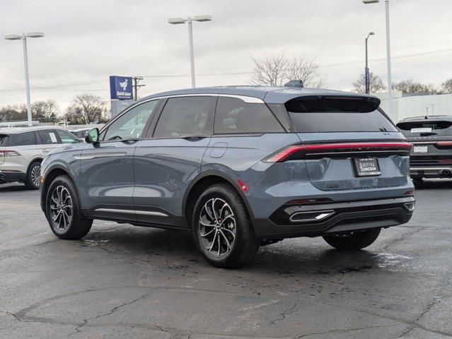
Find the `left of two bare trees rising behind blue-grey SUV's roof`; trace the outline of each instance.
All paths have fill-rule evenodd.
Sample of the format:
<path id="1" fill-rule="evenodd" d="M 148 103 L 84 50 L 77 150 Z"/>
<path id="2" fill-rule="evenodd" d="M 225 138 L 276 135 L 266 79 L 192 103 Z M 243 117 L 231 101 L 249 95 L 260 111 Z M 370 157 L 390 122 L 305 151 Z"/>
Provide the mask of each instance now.
<path id="1" fill-rule="evenodd" d="M 270 54 L 251 58 L 254 61 L 253 73 L 249 76 L 251 83 L 281 86 L 286 80 L 286 67 L 288 64 L 286 54 Z"/>

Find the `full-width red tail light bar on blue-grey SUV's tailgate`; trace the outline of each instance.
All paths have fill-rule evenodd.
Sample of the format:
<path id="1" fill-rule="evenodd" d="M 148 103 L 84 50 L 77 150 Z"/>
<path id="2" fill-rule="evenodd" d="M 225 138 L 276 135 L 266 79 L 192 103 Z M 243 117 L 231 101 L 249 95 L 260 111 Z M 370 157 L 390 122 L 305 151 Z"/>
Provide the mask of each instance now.
<path id="1" fill-rule="evenodd" d="M 306 155 L 320 155 L 322 153 L 357 153 L 401 151 L 410 153 L 411 143 L 313 143 L 308 145 L 291 145 L 266 157 L 263 162 L 284 162 L 287 160 L 303 159 Z"/>

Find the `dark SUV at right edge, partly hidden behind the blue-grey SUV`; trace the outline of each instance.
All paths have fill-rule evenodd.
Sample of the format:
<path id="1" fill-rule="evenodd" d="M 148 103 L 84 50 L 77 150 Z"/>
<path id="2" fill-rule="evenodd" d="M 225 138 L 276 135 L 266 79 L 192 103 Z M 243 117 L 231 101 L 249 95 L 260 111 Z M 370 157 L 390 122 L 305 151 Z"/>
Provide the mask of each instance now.
<path id="1" fill-rule="evenodd" d="M 452 178 L 452 116 L 431 115 L 403 119 L 397 124 L 414 145 L 410 174 L 422 178 Z"/>

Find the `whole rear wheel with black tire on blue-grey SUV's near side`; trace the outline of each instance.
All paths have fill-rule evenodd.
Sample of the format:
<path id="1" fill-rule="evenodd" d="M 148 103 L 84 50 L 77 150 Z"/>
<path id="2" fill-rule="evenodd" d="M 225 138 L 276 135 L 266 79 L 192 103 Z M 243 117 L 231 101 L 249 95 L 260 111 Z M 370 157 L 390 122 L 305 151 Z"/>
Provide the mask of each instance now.
<path id="1" fill-rule="evenodd" d="M 219 218 L 209 217 L 211 213 L 208 212 L 209 210 L 212 212 L 212 209 L 207 207 L 207 203 L 209 206 L 219 209 L 219 213 L 216 213 Z M 204 227 L 199 222 L 200 218 L 216 226 Z M 245 203 L 236 189 L 229 184 L 215 184 L 202 192 L 195 204 L 192 230 L 195 243 L 202 256 L 208 263 L 216 267 L 236 268 L 241 266 L 250 261 L 260 247 L 260 240 L 255 236 Z M 207 230 L 213 230 L 214 235 L 207 236 Z M 216 235 L 218 235 L 218 239 L 211 239 L 211 245 L 214 247 L 209 251 L 207 248 L 209 237 Z"/>

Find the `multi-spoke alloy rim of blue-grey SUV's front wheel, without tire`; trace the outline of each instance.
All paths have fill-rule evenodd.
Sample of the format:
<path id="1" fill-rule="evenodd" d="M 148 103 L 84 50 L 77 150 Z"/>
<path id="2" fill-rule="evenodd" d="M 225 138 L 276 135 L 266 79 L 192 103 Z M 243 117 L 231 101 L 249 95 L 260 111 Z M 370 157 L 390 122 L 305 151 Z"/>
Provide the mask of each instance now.
<path id="1" fill-rule="evenodd" d="M 50 218 L 57 230 L 66 230 L 71 225 L 74 208 L 71 194 L 64 186 L 57 186 L 50 198 Z"/>

